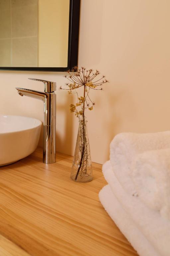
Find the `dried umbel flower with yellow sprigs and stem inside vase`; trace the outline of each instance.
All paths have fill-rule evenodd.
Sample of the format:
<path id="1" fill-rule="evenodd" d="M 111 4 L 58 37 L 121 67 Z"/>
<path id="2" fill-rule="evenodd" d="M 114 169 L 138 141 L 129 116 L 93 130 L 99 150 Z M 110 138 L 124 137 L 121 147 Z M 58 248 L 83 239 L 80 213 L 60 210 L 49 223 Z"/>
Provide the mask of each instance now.
<path id="1" fill-rule="evenodd" d="M 68 89 L 64 89 L 60 86 L 60 89 L 68 90 L 68 93 L 71 94 L 72 91 L 77 94 L 77 103 L 70 104 L 70 112 L 75 113 L 75 116 L 79 118 L 80 121 L 85 121 L 85 110 L 93 110 L 95 102 L 90 98 L 90 90 L 103 90 L 102 86 L 107 83 L 107 80 L 103 80 L 105 76 L 98 78 L 100 72 L 96 70 L 93 72 L 93 69 L 86 69 L 85 67 L 78 68 L 77 66 L 73 67 L 67 71 L 68 76 L 64 76 L 69 80 L 69 83 L 66 83 Z M 83 96 L 78 96 L 77 89 L 83 87 Z M 80 175 L 87 175 L 87 159 L 88 151 L 87 149 L 87 140 L 85 136 L 85 122 L 80 126 L 80 145 L 79 150 L 81 152 L 80 163 L 77 169 L 75 180 L 77 179 L 79 173 Z"/>

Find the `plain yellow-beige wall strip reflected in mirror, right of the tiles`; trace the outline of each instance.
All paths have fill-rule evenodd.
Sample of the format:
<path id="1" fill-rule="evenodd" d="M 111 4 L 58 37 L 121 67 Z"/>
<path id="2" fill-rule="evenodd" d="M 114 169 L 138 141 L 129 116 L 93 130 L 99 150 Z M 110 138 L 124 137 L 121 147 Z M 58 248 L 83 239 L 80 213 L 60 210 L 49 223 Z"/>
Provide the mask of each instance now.
<path id="1" fill-rule="evenodd" d="M 69 0 L 39 0 L 39 67 L 67 67 Z"/>

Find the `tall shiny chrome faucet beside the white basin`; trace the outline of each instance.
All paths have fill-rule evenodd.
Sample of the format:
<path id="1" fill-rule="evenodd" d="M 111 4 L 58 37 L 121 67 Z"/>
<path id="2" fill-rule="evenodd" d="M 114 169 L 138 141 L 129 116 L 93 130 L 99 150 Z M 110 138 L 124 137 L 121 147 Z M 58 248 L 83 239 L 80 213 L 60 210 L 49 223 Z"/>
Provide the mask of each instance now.
<path id="1" fill-rule="evenodd" d="M 55 126 L 56 126 L 56 83 L 41 79 L 29 78 L 41 81 L 44 84 L 44 92 L 24 88 L 17 88 L 19 95 L 42 100 L 44 103 L 43 122 L 43 162 L 55 163 Z"/>

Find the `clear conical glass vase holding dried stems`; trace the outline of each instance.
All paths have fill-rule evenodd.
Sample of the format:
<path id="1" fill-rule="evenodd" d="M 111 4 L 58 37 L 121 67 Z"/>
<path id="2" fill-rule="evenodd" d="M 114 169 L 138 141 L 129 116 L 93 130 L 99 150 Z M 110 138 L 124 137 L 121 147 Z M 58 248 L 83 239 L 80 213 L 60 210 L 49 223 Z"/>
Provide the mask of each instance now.
<path id="1" fill-rule="evenodd" d="M 79 121 L 70 178 L 77 182 L 89 182 L 93 179 L 87 121 Z"/>

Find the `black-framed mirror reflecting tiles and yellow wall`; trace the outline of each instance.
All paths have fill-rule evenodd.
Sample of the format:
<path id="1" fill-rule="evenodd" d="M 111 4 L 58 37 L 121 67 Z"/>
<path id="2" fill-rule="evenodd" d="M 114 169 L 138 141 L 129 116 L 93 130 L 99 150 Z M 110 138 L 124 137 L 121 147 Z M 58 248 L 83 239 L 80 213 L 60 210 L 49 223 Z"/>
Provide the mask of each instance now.
<path id="1" fill-rule="evenodd" d="M 0 0 L 0 69 L 77 65 L 80 0 Z"/>

